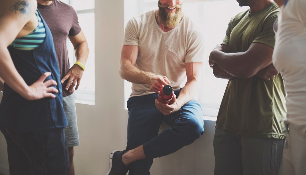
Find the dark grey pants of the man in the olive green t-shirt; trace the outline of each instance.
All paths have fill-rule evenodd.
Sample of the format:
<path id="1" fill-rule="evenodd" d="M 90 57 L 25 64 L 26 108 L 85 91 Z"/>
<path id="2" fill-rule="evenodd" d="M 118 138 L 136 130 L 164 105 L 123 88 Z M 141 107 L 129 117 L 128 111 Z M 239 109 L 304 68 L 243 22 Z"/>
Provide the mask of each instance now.
<path id="1" fill-rule="evenodd" d="M 284 140 L 244 137 L 216 129 L 215 175 L 277 175 Z"/>

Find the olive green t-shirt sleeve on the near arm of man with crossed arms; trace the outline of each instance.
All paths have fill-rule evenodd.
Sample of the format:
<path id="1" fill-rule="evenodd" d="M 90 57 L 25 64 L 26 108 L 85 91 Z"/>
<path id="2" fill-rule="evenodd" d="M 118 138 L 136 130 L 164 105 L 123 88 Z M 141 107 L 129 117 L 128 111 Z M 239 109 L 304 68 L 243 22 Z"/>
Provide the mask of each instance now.
<path id="1" fill-rule="evenodd" d="M 259 35 L 253 40 L 252 43 L 262 43 L 274 48 L 275 44 L 275 33 L 273 31 L 274 22 L 278 16 L 278 11 L 271 13 L 267 16 L 267 19 L 263 23 L 262 31 Z"/>

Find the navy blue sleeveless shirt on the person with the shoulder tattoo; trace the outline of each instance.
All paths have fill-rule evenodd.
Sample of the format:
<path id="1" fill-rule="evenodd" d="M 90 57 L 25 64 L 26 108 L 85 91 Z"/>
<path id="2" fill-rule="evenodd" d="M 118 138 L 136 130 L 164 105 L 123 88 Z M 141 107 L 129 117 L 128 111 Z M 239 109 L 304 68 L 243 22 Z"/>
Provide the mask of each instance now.
<path id="1" fill-rule="evenodd" d="M 40 13 L 39 16 L 43 20 Z M 8 47 L 17 71 L 29 86 L 45 72 L 51 72 L 46 81 L 53 79 L 57 82 L 57 86 L 54 86 L 58 89 L 55 98 L 34 101 L 26 100 L 8 85 L 4 85 L 0 103 L 0 122 L 21 131 L 68 126 L 62 104 L 62 84 L 52 34 L 44 20 L 43 24 L 46 29 L 46 38 L 39 47 L 30 51 L 18 50 L 13 46 Z"/>

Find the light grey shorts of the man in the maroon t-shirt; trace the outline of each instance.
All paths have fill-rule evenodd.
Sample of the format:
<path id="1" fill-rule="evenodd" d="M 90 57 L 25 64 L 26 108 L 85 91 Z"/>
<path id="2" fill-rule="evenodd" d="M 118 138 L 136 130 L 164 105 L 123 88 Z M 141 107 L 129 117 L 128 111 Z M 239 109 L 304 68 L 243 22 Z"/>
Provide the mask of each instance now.
<path id="1" fill-rule="evenodd" d="M 67 147 L 80 145 L 76 122 L 76 95 L 75 93 L 63 97 L 63 107 L 67 117 L 68 126 L 64 128 Z"/>

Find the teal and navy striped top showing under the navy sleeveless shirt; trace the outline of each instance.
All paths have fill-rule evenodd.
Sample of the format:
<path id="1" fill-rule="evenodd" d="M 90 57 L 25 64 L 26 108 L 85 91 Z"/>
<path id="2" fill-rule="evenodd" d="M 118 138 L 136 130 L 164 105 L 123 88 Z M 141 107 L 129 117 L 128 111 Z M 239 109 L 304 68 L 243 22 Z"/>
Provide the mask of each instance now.
<path id="1" fill-rule="evenodd" d="M 24 37 L 16 38 L 10 46 L 20 50 L 33 50 L 43 43 L 46 37 L 46 29 L 37 10 L 35 14 L 38 19 L 38 26 L 35 30 Z"/>

